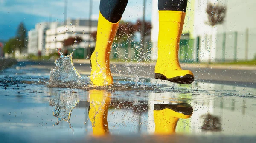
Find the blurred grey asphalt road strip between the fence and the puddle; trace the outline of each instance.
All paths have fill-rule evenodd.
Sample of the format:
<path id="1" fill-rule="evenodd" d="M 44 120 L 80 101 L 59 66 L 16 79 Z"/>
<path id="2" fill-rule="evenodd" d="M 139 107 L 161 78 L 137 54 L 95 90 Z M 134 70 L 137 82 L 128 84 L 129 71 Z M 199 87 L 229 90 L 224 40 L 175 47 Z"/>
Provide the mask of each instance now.
<path id="1" fill-rule="evenodd" d="M 18 62 L 20 66 L 31 66 L 40 69 L 49 69 L 54 67 L 53 62 Z M 82 75 L 90 74 L 90 64 L 88 63 L 75 63 L 76 69 Z M 253 87 L 256 88 L 256 70 L 241 70 L 241 69 L 230 69 L 228 66 L 224 68 L 207 68 L 207 67 L 190 67 L 183 69 L 192 70 L 195 75 L 195 80 L 207 83 L 216 84 L 228 84 L 236 85 L 241 87 Z M 148 77 L 154 78 L 154 65 L 145 64 L 111 64 L 111 72 L 113 76 L 128 76 L 128 77 Z"/>

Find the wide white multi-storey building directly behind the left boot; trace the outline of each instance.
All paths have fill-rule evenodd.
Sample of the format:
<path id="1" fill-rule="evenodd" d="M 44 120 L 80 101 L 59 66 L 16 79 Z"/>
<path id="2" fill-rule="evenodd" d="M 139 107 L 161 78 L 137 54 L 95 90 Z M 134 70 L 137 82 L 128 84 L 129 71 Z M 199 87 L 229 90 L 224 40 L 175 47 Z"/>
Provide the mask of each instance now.
<path id="1" fill-rule="evenodd" d="M 89 20 L 67 20 L 66 26 L 50 26 L 46 31 L 45 49 L 47 52 L 53 53 L 56 49 L 63 49 L 63 41 L 70 37 L 81 37 L 82 42 L 78 44 L 78 48 L 88 48 L 95 46 L 95 41 L 90 37 L 90 32 L 97 31 L 98 21 L 92 21 L 91 30 L 89 28 Z"/>

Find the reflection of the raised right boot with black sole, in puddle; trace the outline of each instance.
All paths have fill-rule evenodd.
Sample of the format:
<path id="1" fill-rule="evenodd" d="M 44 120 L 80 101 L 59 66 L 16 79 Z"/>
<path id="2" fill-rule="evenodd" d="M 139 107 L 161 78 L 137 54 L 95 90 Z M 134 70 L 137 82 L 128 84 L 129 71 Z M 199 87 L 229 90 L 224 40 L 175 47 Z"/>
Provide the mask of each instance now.
<path id="1" fill-rule="evenodd" d="M 190 104 L 154 104 L 154 122 L 156 134 L 175 133 L 180 118 L 187 119 L 192 115 Z"/>

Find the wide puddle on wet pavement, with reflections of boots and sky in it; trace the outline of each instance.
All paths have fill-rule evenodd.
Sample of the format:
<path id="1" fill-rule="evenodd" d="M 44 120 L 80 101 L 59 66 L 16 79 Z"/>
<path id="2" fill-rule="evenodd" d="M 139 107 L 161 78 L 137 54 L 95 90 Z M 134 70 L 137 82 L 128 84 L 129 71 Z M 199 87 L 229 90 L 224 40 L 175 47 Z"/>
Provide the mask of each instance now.
<path id="1" fill-rule="evenodd" d="M 3 143 L 256 142 L 256 88 L 133 74 L 111 88 L 49 88 L 49 72 L 28 63 L 0 72 Z"/>

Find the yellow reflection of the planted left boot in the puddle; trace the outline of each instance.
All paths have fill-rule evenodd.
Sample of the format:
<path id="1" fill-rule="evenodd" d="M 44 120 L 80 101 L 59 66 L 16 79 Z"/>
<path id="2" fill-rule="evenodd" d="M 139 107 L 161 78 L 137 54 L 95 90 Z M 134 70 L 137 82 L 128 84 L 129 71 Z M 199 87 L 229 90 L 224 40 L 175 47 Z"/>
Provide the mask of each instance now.
<path id="1" fill-rule="evenodd" d="M 110 92 L 105 90 L 90 90 L 89 119 L 92 122 L 93 135 L 102 136 L 109 133 L 108 106 Z"/>

